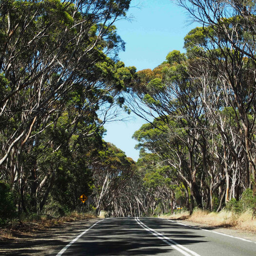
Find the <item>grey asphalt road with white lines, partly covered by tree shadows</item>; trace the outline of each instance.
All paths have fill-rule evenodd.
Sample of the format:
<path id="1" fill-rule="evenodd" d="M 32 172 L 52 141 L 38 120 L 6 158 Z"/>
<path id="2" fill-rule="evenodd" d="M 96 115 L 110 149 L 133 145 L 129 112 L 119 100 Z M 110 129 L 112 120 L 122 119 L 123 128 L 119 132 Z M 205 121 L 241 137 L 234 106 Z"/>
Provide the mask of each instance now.
<path id="1" fill-rule="evenodd" d="M 107 218 L 71 238 L 56 256 L 256 256 L 256 242 L 159 218 Z"/>

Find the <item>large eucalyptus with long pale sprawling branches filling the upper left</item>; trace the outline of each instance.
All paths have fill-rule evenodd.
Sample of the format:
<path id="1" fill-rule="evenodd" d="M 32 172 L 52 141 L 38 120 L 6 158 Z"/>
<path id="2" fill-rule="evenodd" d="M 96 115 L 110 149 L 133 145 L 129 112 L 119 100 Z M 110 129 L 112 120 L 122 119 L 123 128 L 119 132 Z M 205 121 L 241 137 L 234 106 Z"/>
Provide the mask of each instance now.
<path id="1" fill-rule="evenodd" d="M 24 209 L 27 181 L 33 198 L 47 188 L 42 209 L 59 168 L 53 160 L 53 168 L 48 162 L 48 171 L 40 172 L 34 148 L 50 148 L 52 159 L 64 148 L 72 154 L 103 125 L 115 102 L 121 104 L 118 91 L 135 70 L 115 59 L 124 42 L 113 24 L 125 18 L 129 3 L 1 1 L 0 171 L 19 189 Z"/>

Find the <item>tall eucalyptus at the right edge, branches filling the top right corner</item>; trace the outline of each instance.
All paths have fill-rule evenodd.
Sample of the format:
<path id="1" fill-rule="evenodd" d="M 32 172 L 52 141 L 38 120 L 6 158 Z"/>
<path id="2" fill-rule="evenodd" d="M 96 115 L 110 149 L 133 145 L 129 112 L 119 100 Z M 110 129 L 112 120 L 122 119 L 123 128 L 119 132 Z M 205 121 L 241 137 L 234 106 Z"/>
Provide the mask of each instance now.
<path id="1" fill-rule="evenodd" d="M 245 154 L 244 171 L 252 187 L 253 182 L 256 184 L 255 1 L 185 0 L 178 3 L 203 26 L 197 29 L 199 40 L 187 38 L 187 45 L 197 48 L 197 55 L 217 72 L 225 103 L 233 108 L 236 125 L 243 131 L 240 144 Z"/>

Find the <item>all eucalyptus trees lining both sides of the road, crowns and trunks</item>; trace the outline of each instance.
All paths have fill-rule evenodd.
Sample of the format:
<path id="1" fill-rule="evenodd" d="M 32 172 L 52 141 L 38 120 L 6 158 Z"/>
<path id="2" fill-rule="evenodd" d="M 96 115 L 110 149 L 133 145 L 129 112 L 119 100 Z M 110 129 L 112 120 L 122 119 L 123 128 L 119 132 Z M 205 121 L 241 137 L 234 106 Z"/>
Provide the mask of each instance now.
<path id="1" fill-rule="evenodd" d="M 0 2 L 0 223 L 81 194 L 117 217 L 244 197 L 256 214 L 255 1 L 177 0 L 199 26 L 139 71 L 118 59 L 130 2 Z M 103 140 L 121 110 L 146 121 L 137 163 Z"/>

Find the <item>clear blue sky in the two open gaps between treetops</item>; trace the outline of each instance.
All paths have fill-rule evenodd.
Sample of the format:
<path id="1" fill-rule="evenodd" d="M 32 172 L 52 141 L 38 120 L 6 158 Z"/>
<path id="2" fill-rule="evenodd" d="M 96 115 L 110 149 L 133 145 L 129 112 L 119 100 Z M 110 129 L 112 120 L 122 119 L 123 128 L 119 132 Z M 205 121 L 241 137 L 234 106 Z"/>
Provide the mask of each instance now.
<path id="1" fill-rule="evenodd" d="M 132 20 L 116 22 L 118 35 L 125 41 L 125 52 L 119 59 L 126 66 L 135 66 L 138 70 L 154 69 L 170 51 L 184 52 L 183 39 L 196 27 L 188 23 L 185 11 L 172 0 L 132 0 L 127 15 Z M 107 134 L 105 141 L 115 144 L 127 157 L 138 159 L 139 152 L 134 147 L 137 141 L 132 139 L 145 121 L 130 115 L 129 121 L 116 121 L 104 125 Z"/>

